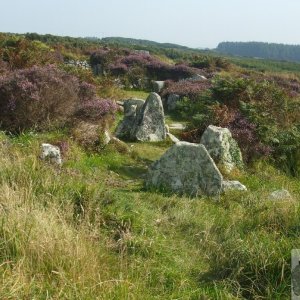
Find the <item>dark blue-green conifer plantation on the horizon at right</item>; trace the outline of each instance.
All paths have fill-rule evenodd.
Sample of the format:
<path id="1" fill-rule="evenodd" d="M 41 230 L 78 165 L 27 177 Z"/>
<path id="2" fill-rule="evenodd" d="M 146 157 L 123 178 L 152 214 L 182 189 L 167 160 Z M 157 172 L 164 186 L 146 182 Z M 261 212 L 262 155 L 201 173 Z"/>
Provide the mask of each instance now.
<path id="1" fill-rule="evenodd" d="M 216 50 L 230 55 L 300 61 L 300 45 L 262 42 L 222 42 Z"/>

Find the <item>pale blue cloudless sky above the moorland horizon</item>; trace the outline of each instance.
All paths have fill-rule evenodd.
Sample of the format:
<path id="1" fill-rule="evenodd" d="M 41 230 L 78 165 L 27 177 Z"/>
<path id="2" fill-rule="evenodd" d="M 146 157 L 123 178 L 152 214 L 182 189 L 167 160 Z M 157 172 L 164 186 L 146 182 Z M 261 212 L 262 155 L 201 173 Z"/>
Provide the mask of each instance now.
<path id="1" fill-rule="evenodd" d="M 0 0 L 0 32 L 300 44 L 300 0 Z"/>

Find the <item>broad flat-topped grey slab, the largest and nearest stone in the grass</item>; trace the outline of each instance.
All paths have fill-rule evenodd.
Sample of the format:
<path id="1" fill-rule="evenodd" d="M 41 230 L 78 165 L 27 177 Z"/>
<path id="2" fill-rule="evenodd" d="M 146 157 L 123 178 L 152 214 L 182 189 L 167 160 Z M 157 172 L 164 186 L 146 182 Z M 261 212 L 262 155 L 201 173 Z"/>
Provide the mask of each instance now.
<path id="1" fill-rule="evenodd" d="M 223 177 L 201 144 L 178 142 L 154 162 L 146 175 L 146 187 L 197 196 L 218 195 Z"/>

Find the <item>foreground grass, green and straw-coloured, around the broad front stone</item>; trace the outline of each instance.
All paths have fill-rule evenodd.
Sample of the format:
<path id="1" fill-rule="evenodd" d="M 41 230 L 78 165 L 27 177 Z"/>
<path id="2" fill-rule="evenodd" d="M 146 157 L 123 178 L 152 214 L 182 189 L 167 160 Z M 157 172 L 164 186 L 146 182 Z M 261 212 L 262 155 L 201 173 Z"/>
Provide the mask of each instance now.
<path id="1" fill-rule="evenodd" d="M 64 139 L 62 168 L 38 158 Z M 288 299 L 299 181 L 260 162 L 249 192 L 188 199 L 143 189 L 170 145 L 87 153 L 67 134 L 0 138 L 1 299 Z M 267 199 L 287 188 L 294 201 Z"/>

